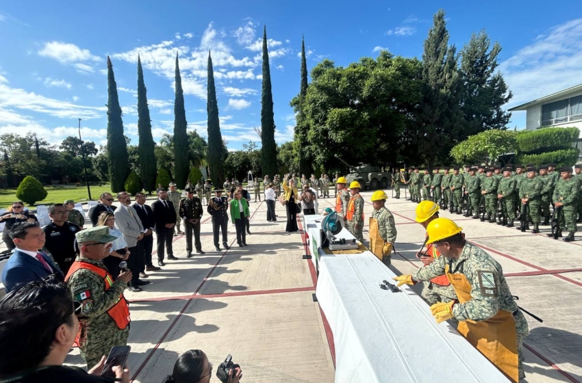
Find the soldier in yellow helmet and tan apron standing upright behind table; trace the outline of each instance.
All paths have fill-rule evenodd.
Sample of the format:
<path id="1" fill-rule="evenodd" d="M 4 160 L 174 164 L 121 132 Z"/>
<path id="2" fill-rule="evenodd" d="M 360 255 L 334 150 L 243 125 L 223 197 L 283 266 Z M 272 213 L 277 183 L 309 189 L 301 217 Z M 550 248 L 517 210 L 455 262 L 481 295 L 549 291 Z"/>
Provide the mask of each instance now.
<path id="1" fill-rule="evenodd" d="M 388 196 L 383 190 L 377 190 L 370 198 L 374 207 L 374 212 L 370 217 L 370 251 L 384 265 L 390 266 L 390 256 L 394 241 L 396 241 L 396 224 L 394 224 L 394 216 L 385 207 L 386 200 Z"/>

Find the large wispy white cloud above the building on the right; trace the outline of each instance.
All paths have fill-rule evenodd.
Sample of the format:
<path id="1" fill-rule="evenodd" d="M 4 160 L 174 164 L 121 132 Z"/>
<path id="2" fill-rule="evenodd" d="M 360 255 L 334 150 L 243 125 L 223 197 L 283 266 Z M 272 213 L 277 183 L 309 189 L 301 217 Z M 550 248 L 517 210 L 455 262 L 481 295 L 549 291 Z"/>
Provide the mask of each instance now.
<path id="1" fill-rule="evenodd" d="M 499 66 L 514 94 L 507 107 L 582 83 L 581 62 L 582 18 L 551 27 Z"/>

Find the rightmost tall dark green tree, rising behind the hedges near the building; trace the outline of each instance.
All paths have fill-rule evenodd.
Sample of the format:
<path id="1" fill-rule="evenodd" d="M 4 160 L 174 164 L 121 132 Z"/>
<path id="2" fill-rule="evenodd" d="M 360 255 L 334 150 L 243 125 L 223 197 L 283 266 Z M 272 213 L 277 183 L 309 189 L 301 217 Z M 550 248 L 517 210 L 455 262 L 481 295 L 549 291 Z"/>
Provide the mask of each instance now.
<path id="1" fill-rule="evenodd" d="M 496 72 L 501 45 L 491 46 L 485 31 L 472 34 L 461 51 L 461 107 L 466 127 L 464 135 L 488 129 L 506 129 L 511 113 L 503 110 L 512 97 L 503 75 Z"/>

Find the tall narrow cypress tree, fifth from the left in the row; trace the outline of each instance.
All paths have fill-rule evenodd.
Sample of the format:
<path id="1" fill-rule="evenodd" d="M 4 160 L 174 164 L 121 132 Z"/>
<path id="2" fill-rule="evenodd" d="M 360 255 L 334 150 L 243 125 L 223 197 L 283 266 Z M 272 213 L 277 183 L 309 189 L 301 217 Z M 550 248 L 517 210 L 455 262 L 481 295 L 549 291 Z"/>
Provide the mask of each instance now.
<path id="1" fill-rule="evenodd" d="M 267 27 L 263 30 L 263 90 L 261 100 L 261 163 L 263 174 L 277 173 L 277 144 L 275 144 L 275 118 L 273 114 L 273 92 L 270 83 L 269 53 L 267 49 Z"/>

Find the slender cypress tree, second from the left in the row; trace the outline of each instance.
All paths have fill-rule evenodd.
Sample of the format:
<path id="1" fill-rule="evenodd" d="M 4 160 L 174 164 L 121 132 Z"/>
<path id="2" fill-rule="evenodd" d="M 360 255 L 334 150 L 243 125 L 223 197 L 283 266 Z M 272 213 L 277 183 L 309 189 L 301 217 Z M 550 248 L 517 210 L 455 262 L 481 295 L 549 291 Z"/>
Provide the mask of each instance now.
<path id="1" fill-rule="evenodd" d="M 140 161 L 140 185 L 146 185 L 147 190 L 155 190 L 155 172 L 157 164 L 153 148 L 155 144 L 151 135 L 151 120 L 147 106 L 147 89 L 144 83 L 142 62 L 138 55 L 138 157 Z"/>

